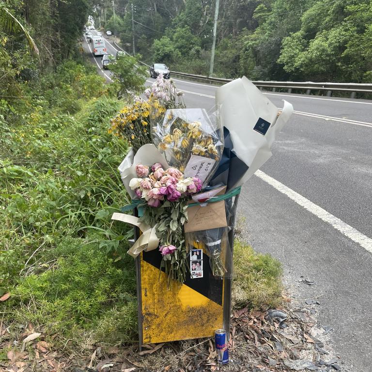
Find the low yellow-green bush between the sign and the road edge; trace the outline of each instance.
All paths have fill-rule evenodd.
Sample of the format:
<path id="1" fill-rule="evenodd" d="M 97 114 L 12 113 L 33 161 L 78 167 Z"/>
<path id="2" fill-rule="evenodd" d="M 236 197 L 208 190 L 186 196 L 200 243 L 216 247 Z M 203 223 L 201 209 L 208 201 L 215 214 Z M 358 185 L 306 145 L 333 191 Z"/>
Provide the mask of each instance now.
<path id="1" fill-rule="evenodd" d="M 255 253 L 239 240 L 234 242 L 233 303 L 236 307 L 275 308 L 282 300 L 282 268 L 269 254 Z"/>

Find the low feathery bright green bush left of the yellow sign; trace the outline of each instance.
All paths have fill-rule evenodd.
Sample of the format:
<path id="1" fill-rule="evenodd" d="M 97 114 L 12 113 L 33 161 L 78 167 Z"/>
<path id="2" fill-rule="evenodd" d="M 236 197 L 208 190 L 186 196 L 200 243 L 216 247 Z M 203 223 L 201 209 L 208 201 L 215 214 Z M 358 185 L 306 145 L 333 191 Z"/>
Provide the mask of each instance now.
<path id="1" fill-rule="evenodd" d="M 78 340 L 97 329 L 97 339 L 136 337 L 137 301 L 134 261 L 114 263 L 97 243 L 80 238 L 62 239 L 48 254 L 52 266 L 31 275 L 12 291 L 7 301 L 14 320 L 31 321 L 59 340 Z M 121 330 L 121 331 L 120 331 Z M 112 335 L 113 331 L 119 331 Z"/>

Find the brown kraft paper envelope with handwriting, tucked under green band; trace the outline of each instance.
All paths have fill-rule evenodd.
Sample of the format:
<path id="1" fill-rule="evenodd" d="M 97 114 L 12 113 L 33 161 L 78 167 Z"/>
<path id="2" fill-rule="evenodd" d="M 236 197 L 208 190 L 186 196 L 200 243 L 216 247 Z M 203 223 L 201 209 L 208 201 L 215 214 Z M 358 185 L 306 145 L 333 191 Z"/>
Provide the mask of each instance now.
<path id="1" fill-rule="evenodd" d="M 188 207 L 187 215 L 188 222 L 184 225 L 185 233 L 227 226 L 224 200 L 208 203 L 205 206 Z"/>

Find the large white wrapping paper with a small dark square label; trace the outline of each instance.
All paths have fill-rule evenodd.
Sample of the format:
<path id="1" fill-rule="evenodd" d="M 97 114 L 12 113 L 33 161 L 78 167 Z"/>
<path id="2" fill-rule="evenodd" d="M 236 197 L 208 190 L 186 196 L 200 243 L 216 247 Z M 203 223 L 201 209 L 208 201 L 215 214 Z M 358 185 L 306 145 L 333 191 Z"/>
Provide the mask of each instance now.
<path id="1" fill-rule="evenodd" d="M 223 125 L 230 131 L 233 152 L 249 167 L 233 187 L 241 186 L 272 155 L 271 145 L 291 117 L 293 106 L 284 101 L 278 117 L 279 109 L 246 77 L 218 88 L 216 104 Z M 270 123 L 265 134 L 253 129 L 260 118 Z"/>

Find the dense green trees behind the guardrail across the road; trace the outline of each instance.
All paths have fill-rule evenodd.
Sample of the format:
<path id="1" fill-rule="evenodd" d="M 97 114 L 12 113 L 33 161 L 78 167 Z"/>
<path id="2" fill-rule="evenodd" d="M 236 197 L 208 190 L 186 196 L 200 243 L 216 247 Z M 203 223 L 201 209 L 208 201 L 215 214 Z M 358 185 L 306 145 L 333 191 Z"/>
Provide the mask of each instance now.
<path id="1" fill-rule="evenodd" d="M 101 0 L 95 17 L 147 62 L 207 74 L 215 0 Z M 220 0 L 215 73 L 252 79 L 372 80 L 370 0 Z"/>

